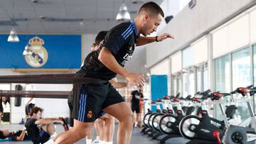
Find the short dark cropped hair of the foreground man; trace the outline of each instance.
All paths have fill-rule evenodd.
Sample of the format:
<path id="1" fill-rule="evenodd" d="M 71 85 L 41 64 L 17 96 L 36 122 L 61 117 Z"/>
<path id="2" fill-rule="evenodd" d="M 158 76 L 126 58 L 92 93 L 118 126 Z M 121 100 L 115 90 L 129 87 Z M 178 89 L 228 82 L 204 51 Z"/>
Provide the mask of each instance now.
<path id="1" fill-rule="evenodd" d="M 153 1 L 143 4 L 142 7 L 139 9 L 139 13 L 141 13 L 142 11 L 148 12 L 151 16 L 161 14 L 161 16 L 163 16 L 164 18 L 164 11 L 158 4 L 154 3 Z"/>

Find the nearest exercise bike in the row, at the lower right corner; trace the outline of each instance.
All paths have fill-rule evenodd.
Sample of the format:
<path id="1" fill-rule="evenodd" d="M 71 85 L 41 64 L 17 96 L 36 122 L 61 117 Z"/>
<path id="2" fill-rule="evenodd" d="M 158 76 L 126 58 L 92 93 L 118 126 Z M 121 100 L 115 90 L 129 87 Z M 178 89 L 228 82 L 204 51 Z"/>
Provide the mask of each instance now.
<path id="1" fill-rule="evenodd" d="M 250 93 L 249 89 L 238 88 L 235 90 L 245 96 Z M 255 89 L 253 89 L 255 92 Z M 231 94 L 234 94 L 232 92 Z M 202 118 L 198 116 L 186 116 L 180 123 L 180 131 L 181 134 L 190 139 L 201 139 L 201 140 L 210 140 L 210 141 L 218 141 L 220 143 L 227 144 L 235 144 L 235 143 L 255 143 L 255 140 L 247 141 L 247 134 L 254 134 L 254 128 L 246 128 L 243 126 L 233 126 L 228 122 L 229 119 L 233 118 L 235 110 L 237 109 L 236 105 L 227 106 L 227 108 L 223 109 L 223 104 L 225 101 L 220 100 L 224 96 L 228 96 L 230 94 L 227 93 L 218 93 L 215 92 L 211 94 L 211 99 L 213 102 L 211 104 L 218 104 L 220 106 L 220 111 L 223 116 L 223 121 L 218 121 L 214 118 L 210 118 L 207 115 L 207 111 L 202 111 Z M 234 100 L 233 100 L 234 101 Z M 246 101 L 246 100 L 245 100 Z M 238 101 L 235 101 L 238 102 Z M 248 109 L 250 111 L 250 115 L 252 118 L 252 123 L 255 123 L 255 116 L 252 111 L 252 107 L 250 101 L 246 101 Z M 214 121 L 218 123 L 220 126 L 215 126 L 210 123 L 210 121 Z M 193 141 L 193 140 L 192 140 Z"/>

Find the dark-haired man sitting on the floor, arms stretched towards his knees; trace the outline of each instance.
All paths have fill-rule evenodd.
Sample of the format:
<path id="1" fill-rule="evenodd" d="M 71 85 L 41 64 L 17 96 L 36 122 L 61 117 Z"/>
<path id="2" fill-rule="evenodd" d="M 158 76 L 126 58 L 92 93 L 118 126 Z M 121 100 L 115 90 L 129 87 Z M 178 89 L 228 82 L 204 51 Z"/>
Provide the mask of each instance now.
<path id="1" fill-rule="evenodd" d="M 49 138 L 55 138 L 57 133 L 53 123 L 60 123 L 63 125 L 65 131 L 68 131 L 68 125 L 63 118 L 41 118 L 43 109 L 38 106 L 33 107 L 31 117 L 26 120 L 25 127 L 28 136 L 34 144 L 46 143 Z"/>

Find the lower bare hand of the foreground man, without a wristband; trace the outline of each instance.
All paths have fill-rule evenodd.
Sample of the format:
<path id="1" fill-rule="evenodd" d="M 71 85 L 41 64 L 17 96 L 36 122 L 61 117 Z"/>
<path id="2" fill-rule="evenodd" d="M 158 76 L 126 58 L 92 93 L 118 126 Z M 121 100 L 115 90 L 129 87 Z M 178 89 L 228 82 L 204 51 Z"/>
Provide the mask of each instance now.
<path id="1" fill-rule="evenodd" d="M 137 85 L 137 87 L 144 86 L 144 75 L 143 74 L 134 74 L 129 73 L 127 76 L 125 76 L 125 79 L 127 79 L 129 85 Z"/>

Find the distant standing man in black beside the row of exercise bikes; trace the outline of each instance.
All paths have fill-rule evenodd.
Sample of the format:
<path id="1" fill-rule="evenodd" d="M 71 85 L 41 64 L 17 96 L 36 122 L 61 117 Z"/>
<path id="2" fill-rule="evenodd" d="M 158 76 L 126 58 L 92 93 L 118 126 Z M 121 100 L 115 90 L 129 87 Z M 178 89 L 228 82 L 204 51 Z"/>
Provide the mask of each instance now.
<path id="1" fill-rule="evenodd" d="M 136 112 L 136 122 L 135 126 L 140 126 L 141 121 L 140 121 L 140 106 L 139 106 L 139 101 L 140 99 L 143 98 L 142 94 L 142 87 L 139 88 L 139 90 L 132 91 L 132 112 Z"/>

